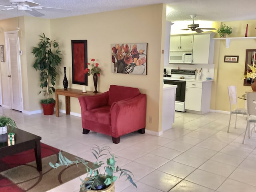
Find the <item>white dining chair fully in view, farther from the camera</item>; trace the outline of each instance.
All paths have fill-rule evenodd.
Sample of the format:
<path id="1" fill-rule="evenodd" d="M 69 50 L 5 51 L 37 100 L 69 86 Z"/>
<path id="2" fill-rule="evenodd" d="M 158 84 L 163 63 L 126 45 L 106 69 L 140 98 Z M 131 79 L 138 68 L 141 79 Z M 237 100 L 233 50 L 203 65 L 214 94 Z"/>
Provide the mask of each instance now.
<path id="1" fill-rule="evenodd" d="M 231 85 L 228 86 L 228 96 L 229 96 L 229 104 L 230 104 L 230 117 L 228 123 L 228 132 L 230 127 L 231 116 L 237 114 L 247 115 L 247 109 L 245 108 L 237 108 L 237 96 L 236 96 L 236 86 Z M 236 128 L 236 121 L 235 121 L 235 128 Z"/>

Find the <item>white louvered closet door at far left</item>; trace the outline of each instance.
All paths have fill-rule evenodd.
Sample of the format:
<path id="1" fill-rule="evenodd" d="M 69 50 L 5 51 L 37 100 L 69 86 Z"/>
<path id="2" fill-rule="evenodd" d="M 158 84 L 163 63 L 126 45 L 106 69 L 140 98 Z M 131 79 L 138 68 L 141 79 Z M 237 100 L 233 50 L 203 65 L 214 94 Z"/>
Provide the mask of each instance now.
<path id="1" fill-rule="evenodd" d="M 6 34 L 6 53 L 8 59 L 8 85 L 10 88 L 10 107 L 22 111 L 22 82 L 20 71 L 18 31 Z"/>

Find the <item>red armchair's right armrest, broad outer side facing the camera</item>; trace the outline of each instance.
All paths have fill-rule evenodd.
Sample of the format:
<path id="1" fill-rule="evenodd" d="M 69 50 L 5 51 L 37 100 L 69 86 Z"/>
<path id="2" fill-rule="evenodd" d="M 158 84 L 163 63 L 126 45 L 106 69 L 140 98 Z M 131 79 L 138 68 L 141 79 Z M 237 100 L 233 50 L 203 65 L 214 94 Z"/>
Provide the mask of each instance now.
<path id="1" fill-rule="evenodd" d="M 110 108 L 112 136 L 115 138 L 146 126 L 146 94 L 114 102 Z"/>

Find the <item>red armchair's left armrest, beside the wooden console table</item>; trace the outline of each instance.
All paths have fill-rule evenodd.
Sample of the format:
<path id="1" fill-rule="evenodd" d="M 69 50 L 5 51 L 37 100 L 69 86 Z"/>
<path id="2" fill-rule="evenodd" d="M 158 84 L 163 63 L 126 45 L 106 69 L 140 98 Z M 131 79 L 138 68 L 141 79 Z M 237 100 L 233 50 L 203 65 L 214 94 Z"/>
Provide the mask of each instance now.
<path id="1" fill-rule="evenodd" d="M 78 100 L 82 111 L 106 106 L 108 105 L 108 91 L 94 96 L 80 96 Z"/>

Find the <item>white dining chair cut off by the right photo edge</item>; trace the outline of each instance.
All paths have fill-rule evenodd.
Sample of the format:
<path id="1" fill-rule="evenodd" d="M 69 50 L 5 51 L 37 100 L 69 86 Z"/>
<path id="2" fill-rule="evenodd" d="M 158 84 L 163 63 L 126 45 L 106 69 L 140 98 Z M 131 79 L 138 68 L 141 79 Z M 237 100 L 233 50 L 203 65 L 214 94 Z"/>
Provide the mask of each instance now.
<path id="1" fill-rule="evenodd" d="M 250 133 L 251 123 L 254 123 L 254 126 L 252 130 L 255 130 L 255 123 L 256 123 L 256 92 L 247 92 L 246 93 L 247 98 L 247 124 L 246 124 L 246 130 L 244 133 L 244 140 L 246 132 L 248 132 L 248 138 L 252 137 L 252 131 Z"/>

